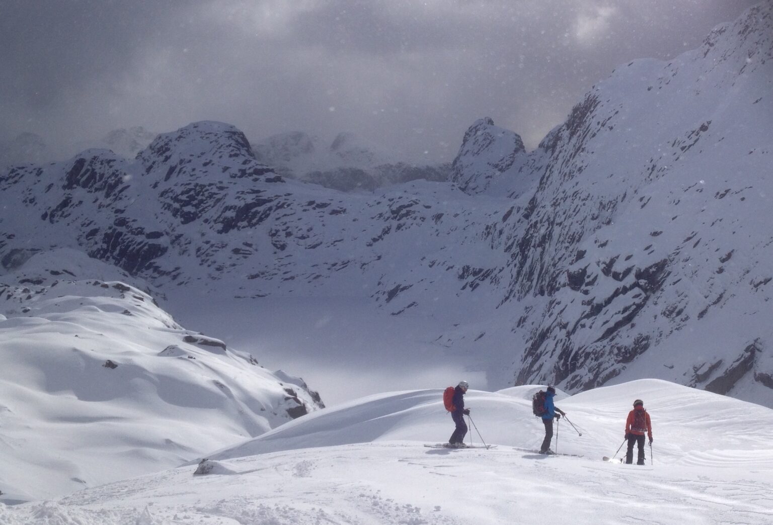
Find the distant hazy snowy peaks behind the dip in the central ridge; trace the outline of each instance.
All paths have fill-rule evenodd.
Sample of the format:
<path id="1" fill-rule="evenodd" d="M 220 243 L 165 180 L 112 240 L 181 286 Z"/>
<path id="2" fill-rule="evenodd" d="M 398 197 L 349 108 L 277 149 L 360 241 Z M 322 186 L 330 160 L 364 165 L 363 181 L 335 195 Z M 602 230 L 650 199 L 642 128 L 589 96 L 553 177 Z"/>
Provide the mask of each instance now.
<path id="1" fill-rule="evenodd" d="M 403 182 L 446 181 L 448 164 L 400 160 L 400 154 L 352 133 L 338 134 L 329 147 L 302 131 L 277 134 L 253 144 L 258 161 L 278 174 L 339 191 L 375 191 Z"/>

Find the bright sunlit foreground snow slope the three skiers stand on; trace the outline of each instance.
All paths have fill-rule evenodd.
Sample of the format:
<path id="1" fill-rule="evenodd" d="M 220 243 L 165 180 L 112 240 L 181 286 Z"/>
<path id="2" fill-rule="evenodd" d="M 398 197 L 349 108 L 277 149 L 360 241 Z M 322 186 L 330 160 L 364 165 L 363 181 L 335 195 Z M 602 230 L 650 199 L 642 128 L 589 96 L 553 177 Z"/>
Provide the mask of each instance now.
<path id="1" fill-rule="evenodd" d="M 561 419 L 553 449 L 582 457 L 541 456 L 521 450 L 542 439 L 530 407 L 538 388 L 468 392 L 479 434 L 471 427 L 467 441 L 495 449 L 425 448 L 453 427 L 442 388 L 393 392 L 298 418 L 199 465 L 0 505 L 0 523 L 773 523 L 771 409 L 649 379 L 559 392 L 578 431 Z M 645 466 L 603 462 L 635 398 L 652 416 L 652 454 Z"/>

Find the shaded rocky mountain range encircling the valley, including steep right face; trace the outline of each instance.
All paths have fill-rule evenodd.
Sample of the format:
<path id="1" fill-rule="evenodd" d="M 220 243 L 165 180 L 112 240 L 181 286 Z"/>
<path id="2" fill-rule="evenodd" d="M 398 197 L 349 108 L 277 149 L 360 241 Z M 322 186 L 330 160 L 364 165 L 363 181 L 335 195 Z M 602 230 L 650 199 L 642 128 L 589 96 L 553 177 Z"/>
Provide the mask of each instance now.
<path id="1" fill-rule="evenodd" d="M 70 248 L 162 293 L 365 294 L 444 320 L 431 340 L 492 387 L 652 377 L 773 406 L 771 93 L 764 2 L 619 66 L 534 151 L 478 120 L 448 181 L 335 191 L 282 175 L 293 137 L 253 148 L 199 122 L 134 160 L 7 169 L 0 260 Z"/>

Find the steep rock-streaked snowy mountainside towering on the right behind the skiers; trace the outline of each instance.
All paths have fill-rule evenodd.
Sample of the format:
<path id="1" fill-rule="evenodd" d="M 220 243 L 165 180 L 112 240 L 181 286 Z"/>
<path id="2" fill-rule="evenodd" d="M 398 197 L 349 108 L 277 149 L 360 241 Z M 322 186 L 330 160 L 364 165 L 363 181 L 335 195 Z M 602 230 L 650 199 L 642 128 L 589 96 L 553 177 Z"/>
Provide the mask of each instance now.
<path id="1" fill-rule="evenodd" d="M 773 401 L 771 11 L 618 68 L 543 141 L 505 234 L 506 300 L 529 305 L 517 383 L 652 374 Z"/>

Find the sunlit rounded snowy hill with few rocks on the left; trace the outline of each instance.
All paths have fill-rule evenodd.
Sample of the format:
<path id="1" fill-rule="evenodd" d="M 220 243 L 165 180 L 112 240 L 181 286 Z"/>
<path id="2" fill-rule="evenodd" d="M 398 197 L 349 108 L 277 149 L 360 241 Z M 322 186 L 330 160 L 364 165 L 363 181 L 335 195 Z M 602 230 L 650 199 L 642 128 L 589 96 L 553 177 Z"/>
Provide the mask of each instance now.
<path id="1" fill-rule="evenodd" d="M 0 277 L 4 499 L 171 468 L 323 406 L 113 278 L 142 284 L 66 249 Z"/>

